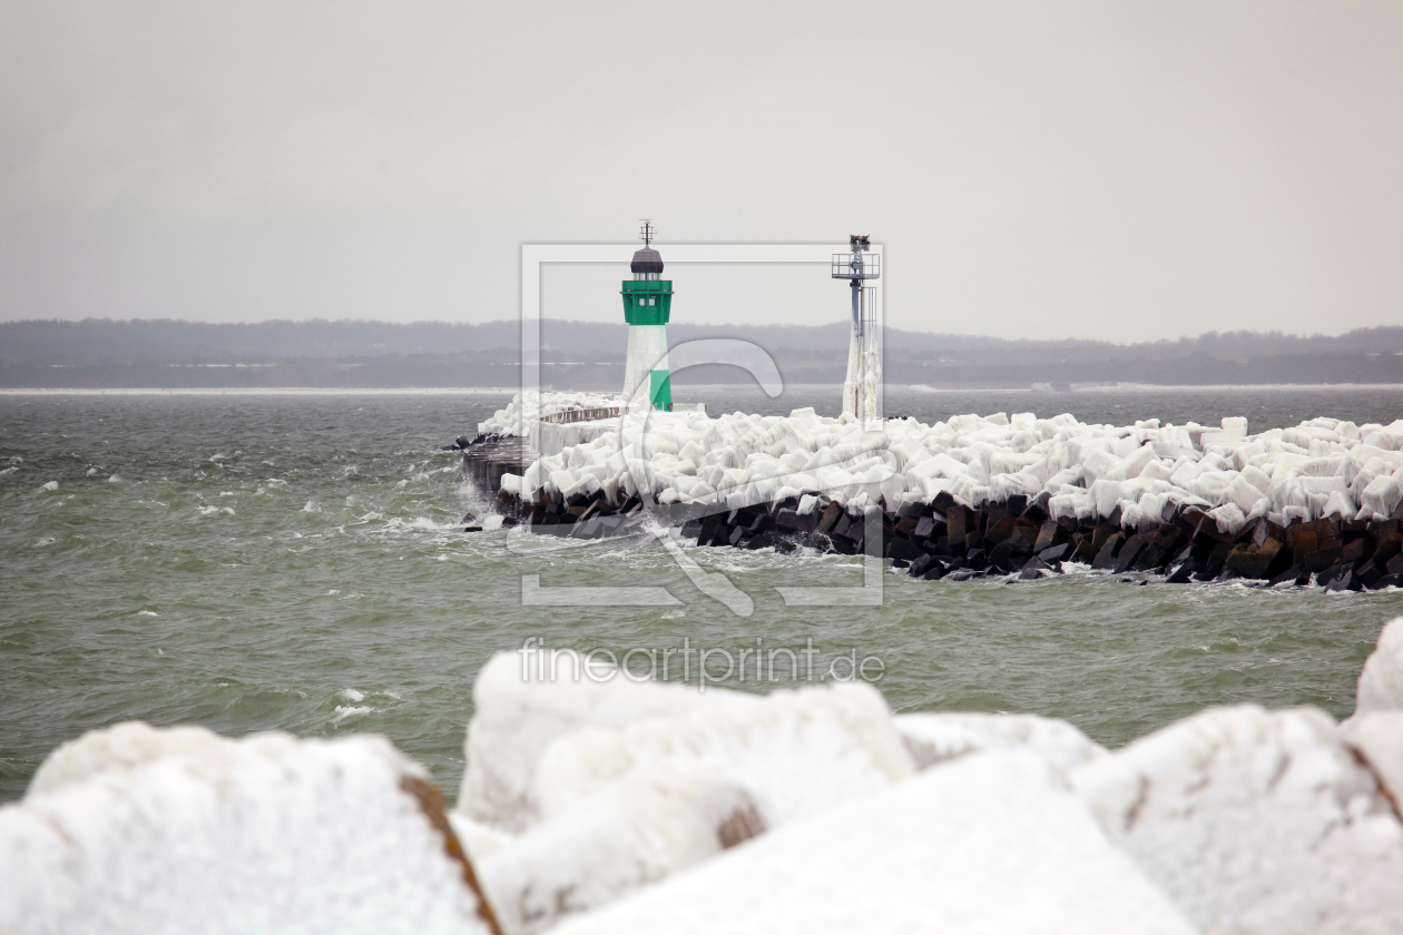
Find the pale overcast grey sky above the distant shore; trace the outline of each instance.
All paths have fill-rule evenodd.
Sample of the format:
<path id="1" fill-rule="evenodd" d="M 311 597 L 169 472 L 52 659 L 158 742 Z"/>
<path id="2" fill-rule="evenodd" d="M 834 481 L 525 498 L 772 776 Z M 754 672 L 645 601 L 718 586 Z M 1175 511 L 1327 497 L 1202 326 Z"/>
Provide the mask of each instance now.
<path id="1" fill-rule="evenodd" d="M 509 318 L 522 243 L 640 217 L 870 233 L 920 331 L 1403 324 L 1403 4 L 0 0 L 0 318 Z M 622 320 L 622 264 L 544 314 Z M 669 275 L 675 321 L 846 315 Z"/>

